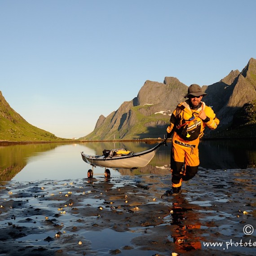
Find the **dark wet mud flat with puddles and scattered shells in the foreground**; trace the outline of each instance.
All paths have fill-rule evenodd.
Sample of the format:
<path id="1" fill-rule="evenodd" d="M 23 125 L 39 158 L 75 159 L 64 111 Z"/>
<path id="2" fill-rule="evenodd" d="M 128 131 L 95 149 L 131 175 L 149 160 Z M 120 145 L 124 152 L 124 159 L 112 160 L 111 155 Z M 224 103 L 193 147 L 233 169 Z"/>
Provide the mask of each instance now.
<path id="1" fill-rule="evenodd" d="M 0 255 L 256 255 L 255 169 L 199 170 L 161 198 L 170 174 L 8 182 Z"/>

